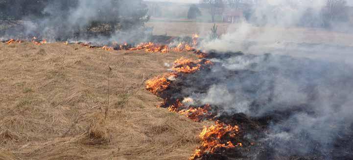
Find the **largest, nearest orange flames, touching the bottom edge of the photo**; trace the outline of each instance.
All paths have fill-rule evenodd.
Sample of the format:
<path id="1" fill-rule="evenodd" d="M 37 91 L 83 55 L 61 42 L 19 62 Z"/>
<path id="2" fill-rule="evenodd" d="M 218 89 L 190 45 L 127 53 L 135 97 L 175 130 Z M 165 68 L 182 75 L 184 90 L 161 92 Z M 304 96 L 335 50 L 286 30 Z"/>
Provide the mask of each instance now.
<path id="1" fill-rule="evenodd" d="M 227 137 L 235 138 L 238 132 L 238 126 L 226 125 L 218 121 L 210 127 L 204 127 L 199 135 L 202 140 L 202 145 L 195 150 L 195 153 L 189 158 L 189 160 L 195 160 L 205 154 L 212 154 L 221 148 L 227 149 L 235 148 L 236 146 L 241 147 L 241 143 L 234 145 L 232 141 L 224 140 L 227 139 Z"/>

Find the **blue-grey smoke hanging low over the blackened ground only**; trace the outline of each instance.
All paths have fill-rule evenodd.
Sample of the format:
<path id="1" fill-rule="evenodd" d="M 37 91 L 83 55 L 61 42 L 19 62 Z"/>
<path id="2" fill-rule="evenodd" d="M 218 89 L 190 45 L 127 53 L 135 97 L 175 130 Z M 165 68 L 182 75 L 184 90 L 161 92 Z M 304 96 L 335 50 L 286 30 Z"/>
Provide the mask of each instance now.
<path id="1" fill-rule="evenodd" d="M 214 57 L 210 70 L 184 81 L 188 87 L 181 95 L 196 105 L 216 107 L 220 117 L 237 113 L 259 120 L 271 117 L 261 130 L 265 136 L 258 140 L 267 146 L 267 155 L 333 160 L 352 156 L 352 66 L 271 54 Z M 248 137 L 264 133 L 255 134 Z"/>

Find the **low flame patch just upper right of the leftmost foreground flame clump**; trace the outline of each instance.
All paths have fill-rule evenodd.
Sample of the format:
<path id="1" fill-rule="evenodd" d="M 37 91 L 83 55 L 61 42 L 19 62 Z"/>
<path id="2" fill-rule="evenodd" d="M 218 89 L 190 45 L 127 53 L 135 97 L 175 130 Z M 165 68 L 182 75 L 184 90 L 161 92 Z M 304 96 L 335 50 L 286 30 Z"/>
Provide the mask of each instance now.
<path id="1" fill-rule="evenodd" d="M 179 60 L 175 60 L 172 70 L 178 73 L 193 73 L 200 70 L 201 64 L 199 62 L 200 60 L 191 60 L 182 57 Z"/>

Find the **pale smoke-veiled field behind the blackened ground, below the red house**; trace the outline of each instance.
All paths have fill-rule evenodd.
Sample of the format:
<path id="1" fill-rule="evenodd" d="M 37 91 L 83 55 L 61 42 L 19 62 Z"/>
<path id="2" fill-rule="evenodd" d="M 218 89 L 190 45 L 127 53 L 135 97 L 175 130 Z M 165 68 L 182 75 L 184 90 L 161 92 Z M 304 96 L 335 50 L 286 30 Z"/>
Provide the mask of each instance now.
<path id="1" fill-rule="evenodd" d="M 153 34 L 191 36 L 197 33 L 207 38 L 213 23 L 148 22 Z M 353 33 L 322 28 L 259 27 L 243 24 L 216 23 L 221 40 L 201 44 L 203 49 L 241 51 L 246 54 L 264 53 L 293 57 L 353 63 Z M 334 55 L 334 56 L 332 56 Z"/>

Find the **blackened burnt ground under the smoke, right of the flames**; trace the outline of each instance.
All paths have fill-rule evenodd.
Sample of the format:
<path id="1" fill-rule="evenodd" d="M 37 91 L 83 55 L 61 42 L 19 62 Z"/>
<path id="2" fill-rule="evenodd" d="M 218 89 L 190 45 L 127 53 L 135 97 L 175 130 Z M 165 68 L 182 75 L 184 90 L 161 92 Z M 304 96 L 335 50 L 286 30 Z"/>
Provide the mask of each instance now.
<path id="1" fill-rule="evenodd" d="M 242 58 L 236 59 L 237 57 Z M 339 113 L 344 105 L 347 104 L 347 107 L 350 107 L 350 95 L 345 94 L 345 91 L 351 92 L 345 87 L 350 88 L 353 85 L 352 74 L 349 74 L 351 71 L 348 69 L 349 66 L 288 56 L 273 56 L 271 54 L 263 56 L 244 55 L 241 52 L 210 52 L 208 58 L 213 60 L 211 67 L 205 67 L 194 74 L 181 75 L 177 80 L 170 81 L 170 87 L 159 95 L 167 99 L 164 104 L 165 107 L 187 97 L 196 101 L 196 104 L 193 105 L 202 106 L 204 103 L 200 97 L 207 95 L 212 86 L 216 84 L 228 85 L 228 89 L 230 89 L 228 94 L 233 94 L 231 92 L 232 85 L 239 85 L 235 83 L 240 83 L 243 86 L 236 89 L 242 90 L 242 94 L 253 96 L 255 99 L 248 98 L 252 100 L 248 113 L 237 112 L 236 108 L 230 112 L 229 110 L 226 111 L 225 106 L 211 104 L 212 114 L 215 116 L 213 120 L 237 125 L 240 128 L 236 138 L 223 137 L 221 142 L 241 142 L 242 147 L 220 148 L 215 153 L 202 155 L 196 160 L 353 160 L 353 123 L 348 118 L 349 116 L 343 117 L 343 121 L 335 117 L 339 115 L 336 115 L 336 113 Z M 245 59 L 245 61 L 250 62 L 256 59 L 254 60 L 256 62 L 250 63 L 246 67 L 240 67 L 241 69 L 228 69 L 227 64 L 222 63 L 222 60 L 226 62 L 233 58 L 239 61 Z M 276 60 L 279 60 L 282 64 L 277 65 Z M 238 62 L 232 64 L 236 63 Z M 258 70 L 258 66 L 265 69 Z M 276 83 L 276 79 L 281 78 L 282 74 L 300 81 L 298 85 L 304 87 L 300 92 L 306 96 L 306 101 L 275 103 L 276 99 L 279 99 L 279 96 L 275 93 L 276 85 L 279 85 Z M 282 94 L 291 93 L 290 83 L 284 84 L 288 87 L 288 91 L 284 91 Z M 327 109 L 320 106 L 322 105 L 320 104 L 322 91 L 319 87 L 321 86 L 325 86 L 325 89 L 332 92 L 329 100 L 333 101 L 331 107 L 335 110 L 332 113 L 324 112 L 325 115 L 321 115 L 319 111 Z M 217 91 L 219 93 L 215 96 L 215 101 L 227 100 L 222 99 L 222 96 L 228 95 L 223 95 L 222 90 Z M 295 95 L 291 96 L 294 100 L 296 99 Z M 350 111 L 346 110 L 346 112 Z M 298 129 L 303 124 L 293 120 L 293 117 L 303 114 L 309 115 L 306 117 L 307 123 L 311 122 L 309 117 L 318 119 L 317 126 Z M 329 117 L 329 121 L 325 122 L 326 124 L 324 123 L 325 129 L 320 128 L 321 123 L 325 120 L 324 118 L 327 117 Z M 277 127 L 275 132 L 274 126 Z M 297 132 L 297 129 L 300 132 Z M 271 136 L 278 136 L 275 133 L 279 131 L 293 135 L 288 140 L 282 140 L 281 137 L 272 139 Z M 311 135 L 311 132 L 317 135 Z M 329 133 L 324 137 L 327 138 L 326 140 L 318 139 L 322 138 L 322 136 L 319 136 L 322 134 L 320 132 Z"/>

